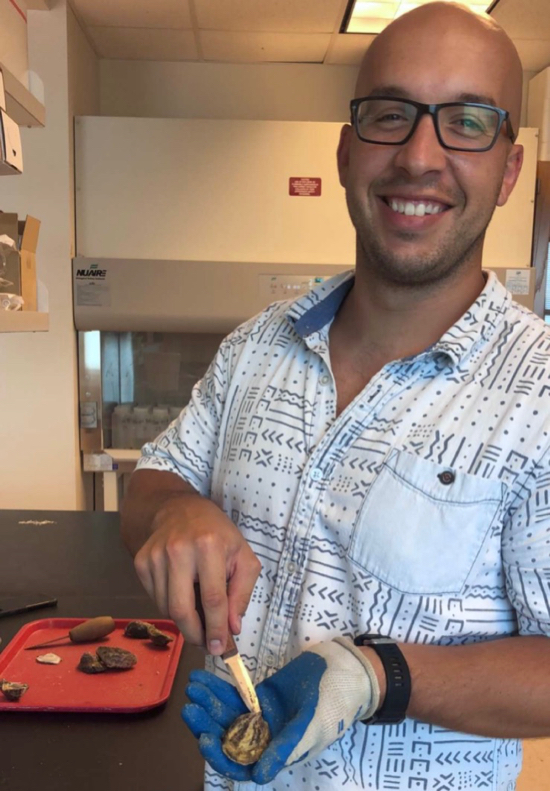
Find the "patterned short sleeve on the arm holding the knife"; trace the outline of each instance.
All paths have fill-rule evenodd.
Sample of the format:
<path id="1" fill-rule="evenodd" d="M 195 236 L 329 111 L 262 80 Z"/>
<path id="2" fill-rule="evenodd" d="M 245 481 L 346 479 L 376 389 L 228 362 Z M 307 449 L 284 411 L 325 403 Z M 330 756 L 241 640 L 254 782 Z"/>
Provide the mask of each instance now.
<path id="1" fill-rule="evenodd" d="M 222 342 L 180 416 L 154 442 L 143 446 L 137 469 L 176 473 L 203 496 L 210 495 L 231 378 L 232 348 L 230 339 Z"/>

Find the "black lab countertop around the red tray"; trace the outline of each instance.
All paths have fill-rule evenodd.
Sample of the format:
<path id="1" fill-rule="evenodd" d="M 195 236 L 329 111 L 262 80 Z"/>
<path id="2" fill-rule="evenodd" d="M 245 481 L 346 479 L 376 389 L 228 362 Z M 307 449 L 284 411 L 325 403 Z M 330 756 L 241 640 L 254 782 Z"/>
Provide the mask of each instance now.
<path id="1" fill-rule="evenodd" d="M 44 520 L 54 524 L 22 524 Z M 0 600 L 27 593 L 58 605 L 0 618 L 0 650 L 38 618 L 160 617 L 114 513 L 0 511 Z M 141 714 L 0 713 L 0 789 L 199 791 L 203 761 L 180 711 L 202 665 L 203 652 L 184 645 L 169 700 Z"/>

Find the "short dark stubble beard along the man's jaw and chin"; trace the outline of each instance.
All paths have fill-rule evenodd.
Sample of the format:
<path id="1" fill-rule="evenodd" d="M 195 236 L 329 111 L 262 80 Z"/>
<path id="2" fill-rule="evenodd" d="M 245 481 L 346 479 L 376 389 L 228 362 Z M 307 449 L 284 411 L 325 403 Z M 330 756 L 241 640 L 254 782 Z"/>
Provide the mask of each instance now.
<path id="1" fill-rule="evenodd" d="M 357 232 L 358 266 L 364 266 L 379 281 L 403 288 L 443 283 L 459 273 L 469 262 L 480 258 L 487 226 L 496 207 L 495 200 L 489 216 L 483 218 L 482 222 L 475 223 L 475 227 L 471 224 L 465 227 L 459 223 L 458 227 L 429 252 L 418 256 L 414 253 L 395 254 L 385 247 L 359 202 L 354 201 L 349 194 L 347 202 L 351 221 Z M 399 238 L 412 244 L 418 237 L 415 233 L 403 231 Z"/>

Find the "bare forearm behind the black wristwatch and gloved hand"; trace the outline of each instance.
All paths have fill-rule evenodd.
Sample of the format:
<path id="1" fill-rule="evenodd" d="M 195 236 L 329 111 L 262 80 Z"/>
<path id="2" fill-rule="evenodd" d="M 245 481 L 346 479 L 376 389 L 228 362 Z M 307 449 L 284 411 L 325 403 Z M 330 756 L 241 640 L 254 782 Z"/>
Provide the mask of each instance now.
<path id="1" fill-rule="evenodd" d="M 550 736 L 550 639 L 465 646 L 401 643 L 412 695 L 407 716 L 500 738 Z M 374 653 L 364 648 L 369 659 Z M 378 671 L 379 672 L 379 671 Z"/>

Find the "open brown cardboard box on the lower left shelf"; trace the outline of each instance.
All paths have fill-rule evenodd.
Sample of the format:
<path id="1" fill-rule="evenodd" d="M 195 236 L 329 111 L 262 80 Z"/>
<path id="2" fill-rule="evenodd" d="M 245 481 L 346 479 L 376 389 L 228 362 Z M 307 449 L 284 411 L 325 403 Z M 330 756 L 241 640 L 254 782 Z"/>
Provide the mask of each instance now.
<path id="1" fill-rule="evenodd" d="M 23 310 L 37 310 L 36 299 L 36 248 L 40 220 L 27 215 L 24 221 L 17 214 L 0 212 L 0 235 L 6 234 L 15 241 L 17 250 L 8 253 L 6 267 L 0 275 L 6 283 L 0 282 L 0 292 L 18 294 L 23 297 Z"/>

